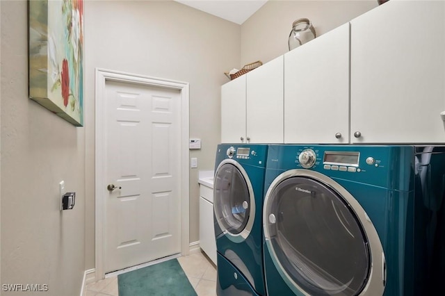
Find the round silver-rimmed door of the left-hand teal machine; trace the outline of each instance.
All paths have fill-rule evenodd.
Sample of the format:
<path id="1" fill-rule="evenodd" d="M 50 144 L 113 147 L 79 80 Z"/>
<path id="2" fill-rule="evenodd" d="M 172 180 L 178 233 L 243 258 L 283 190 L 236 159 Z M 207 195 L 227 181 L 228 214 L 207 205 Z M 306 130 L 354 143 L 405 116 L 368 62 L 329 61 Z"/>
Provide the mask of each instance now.
<path id="1" fill-rule="evenodd" d="M 220 229 L 234 242 L 252 231 L 255 203 L 252 184 L 243 167 L 232 159 L 222 161 L 213 182 L 213 210 Z"/>

